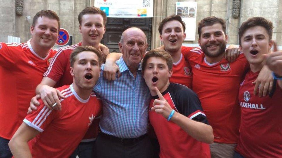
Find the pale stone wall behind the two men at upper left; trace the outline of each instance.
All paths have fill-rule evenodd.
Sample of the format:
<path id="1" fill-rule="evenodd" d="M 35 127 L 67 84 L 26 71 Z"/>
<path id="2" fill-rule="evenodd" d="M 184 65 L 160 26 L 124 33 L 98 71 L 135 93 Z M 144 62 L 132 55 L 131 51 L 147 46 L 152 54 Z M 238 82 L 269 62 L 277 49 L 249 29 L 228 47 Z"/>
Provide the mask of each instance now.
<path id="1" fill-rule="evenodd" d="M 15 0 L 0 0 L 0 41 L 7 42 L 8 35 L 25 42 L 31 38 L 30 26 L 33 16 L 42 9 L 55 11 L 60 17 L 61 27 L 73 36 L 73 44 L 81 41 L 77 16 L 90 0 L 24 0 L 23 15 L 15 14 Z"/>

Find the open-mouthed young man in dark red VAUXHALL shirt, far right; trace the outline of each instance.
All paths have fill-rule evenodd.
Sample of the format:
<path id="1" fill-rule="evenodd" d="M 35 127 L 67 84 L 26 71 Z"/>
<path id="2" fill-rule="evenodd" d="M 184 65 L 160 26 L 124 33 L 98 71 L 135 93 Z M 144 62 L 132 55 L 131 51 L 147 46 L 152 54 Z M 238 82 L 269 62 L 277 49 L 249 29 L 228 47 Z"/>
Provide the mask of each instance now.
<path id="1" fill-rule="evenodd" d="M 272 29 L 272 22 L 262 17 L 249 18 L 239 28 L 240 50 L 250 70 L 240 84 L 242 119 L 235 157 L 282 157 L 282 89 L 276 85 L 265 97 L 251 93 L 252 82 L 264 66 L 264 54 L 270 53 L 273 44 Z"/>

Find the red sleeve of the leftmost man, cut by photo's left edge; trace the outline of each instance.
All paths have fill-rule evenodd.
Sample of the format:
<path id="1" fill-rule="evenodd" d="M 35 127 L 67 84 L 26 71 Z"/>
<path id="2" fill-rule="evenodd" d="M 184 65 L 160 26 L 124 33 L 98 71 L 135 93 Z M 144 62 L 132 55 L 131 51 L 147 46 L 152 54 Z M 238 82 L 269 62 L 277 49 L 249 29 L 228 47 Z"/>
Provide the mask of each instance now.
<path id="1" fill-rule="evenodd" d="M 0 65 L 11 68 L 22 51 L 19 43 L 0 43 Z"/>

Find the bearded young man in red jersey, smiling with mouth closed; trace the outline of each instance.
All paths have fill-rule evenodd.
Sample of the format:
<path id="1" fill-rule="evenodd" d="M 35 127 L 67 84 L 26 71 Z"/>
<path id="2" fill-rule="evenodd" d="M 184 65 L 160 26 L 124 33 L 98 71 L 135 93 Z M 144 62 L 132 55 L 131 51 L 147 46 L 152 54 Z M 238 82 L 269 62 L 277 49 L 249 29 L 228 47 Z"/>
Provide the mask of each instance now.
<path id="1" fill-rule="evenodd" d="M 213 127 L 214 143 L 210 145 L 212 157 L 234 155 L 240 125 L 238 90 L 240 81 L 249 68 L 243 54 L 232 63 L 224 58 L 228 41 L 225 28 L 225 20 L 221 18 L 204 18 L 198 24 L 198 43 L 201 50 L 189 47 L 182 49 L 185 59 L 192 67 L 193 91 L 200 98 L 207 119 Z M 266 82 L 266 87 L 261 87 L 268 90 L 272 77 L 270 72 L 267 74 L 270 81 Z"/>

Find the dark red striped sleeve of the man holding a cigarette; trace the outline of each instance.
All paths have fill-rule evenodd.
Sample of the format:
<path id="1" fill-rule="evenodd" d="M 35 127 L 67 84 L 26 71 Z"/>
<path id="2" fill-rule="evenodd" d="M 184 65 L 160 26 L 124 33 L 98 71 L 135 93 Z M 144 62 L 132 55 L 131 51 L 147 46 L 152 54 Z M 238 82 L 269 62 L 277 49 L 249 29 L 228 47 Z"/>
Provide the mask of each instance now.
<path id="1" fill-rule="evenodd" d="M 62 49 L 58 50 L 43 76 L 49 77 L 54 81 L 59 81 L 64 74 L 64 70 L 68 62 L 67 59 L 68 57 L 66 57 L 65 51 Z"/>

